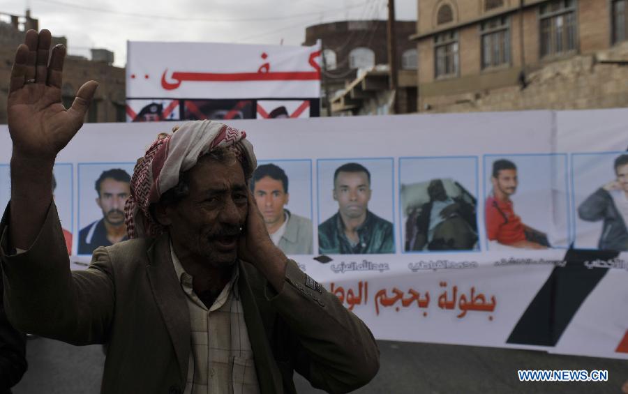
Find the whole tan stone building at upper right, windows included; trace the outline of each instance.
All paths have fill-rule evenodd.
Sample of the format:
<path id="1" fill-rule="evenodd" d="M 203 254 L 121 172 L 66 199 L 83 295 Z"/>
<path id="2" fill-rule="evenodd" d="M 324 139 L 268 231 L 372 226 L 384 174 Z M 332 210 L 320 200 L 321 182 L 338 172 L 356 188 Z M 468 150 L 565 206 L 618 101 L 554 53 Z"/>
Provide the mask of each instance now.
<path id="1" fill-rule="evenodd" d="M 420 112 L 628 105 L 628 0 L 419 0 Z"/>

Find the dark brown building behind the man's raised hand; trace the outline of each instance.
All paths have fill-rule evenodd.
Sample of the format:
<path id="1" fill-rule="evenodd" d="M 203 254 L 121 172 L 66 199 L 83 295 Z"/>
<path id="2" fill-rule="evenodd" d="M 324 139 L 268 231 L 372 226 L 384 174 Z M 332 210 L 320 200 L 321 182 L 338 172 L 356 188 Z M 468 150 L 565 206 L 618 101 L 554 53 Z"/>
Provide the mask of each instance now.
<path id="1" fill-rule="evenodd" d="M 7 123 L 6 100 L 8 96 L 11 65 L 18 45 L 24 43 L 24 35 L 29 29 L 38 30 L 38 20 L 25 16 L 2 15 L 0 20 L 0 123 Z M 54 33 L 54 31 L 53 31 Z M 63 44 L 65 37 L 53 37 L 52 45 Z M 63 65 L 63 86 L 61 95 L 66 107 L 72 105 L 76 91 L 89 79 L 98 81 L 98 90 L 91 104 L 85 121 L 87 122 L 124 122 L 126 121 L 125 70 L 112 66 L 113 54 L 106 50 L 96 51 L 90 61 L 81 56 L 66 56 Z M 108 54 L 106 53 L 108 52 Z"/>

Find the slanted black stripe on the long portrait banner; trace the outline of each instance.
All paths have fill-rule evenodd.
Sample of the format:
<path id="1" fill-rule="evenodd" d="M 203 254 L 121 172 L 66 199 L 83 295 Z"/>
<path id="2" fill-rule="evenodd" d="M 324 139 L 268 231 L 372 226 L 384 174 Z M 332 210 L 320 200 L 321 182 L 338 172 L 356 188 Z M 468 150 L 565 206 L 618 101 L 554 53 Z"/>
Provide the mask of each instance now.
<path id="1" fill-rule="evenodd" d="M 585 299 L 608 268 L 588 268 L 584 262 L 618 257 L 613 250 L 569 249 L 564 267 L 555 267 L 510 333 L 507 343 L 555 346 Z"/>

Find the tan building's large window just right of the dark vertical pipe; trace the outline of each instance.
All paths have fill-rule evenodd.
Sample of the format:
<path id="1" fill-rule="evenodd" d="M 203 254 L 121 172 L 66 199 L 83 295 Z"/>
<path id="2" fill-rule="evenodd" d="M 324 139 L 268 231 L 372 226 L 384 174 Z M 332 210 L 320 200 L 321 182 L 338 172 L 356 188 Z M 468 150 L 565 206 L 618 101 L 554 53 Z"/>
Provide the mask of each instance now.
<path id="1" fill-rule="evenodd" d="M 541 57 L 576 50 L 576 1 L 553 0 L 541 5 Z"/>

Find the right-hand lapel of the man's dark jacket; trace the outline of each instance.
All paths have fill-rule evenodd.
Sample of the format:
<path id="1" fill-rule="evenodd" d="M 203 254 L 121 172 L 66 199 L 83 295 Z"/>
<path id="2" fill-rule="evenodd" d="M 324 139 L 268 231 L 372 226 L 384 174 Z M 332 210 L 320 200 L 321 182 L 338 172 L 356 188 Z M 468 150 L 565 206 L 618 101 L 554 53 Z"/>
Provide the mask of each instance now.
<path id="1" fill-rule="evenodd" d="M 255 357 L 255 372 L 257 372 L 257 380 L 260 382 L 260 390 L 264 394 L 281 394 L 283 393 L 281 372 L 277 368 L 269 344 L 274 314 L 264 313 L 266 319 L 265 321 L 262 320 L 260 308 L 251 290 L 251 285 L 254 285 L 251 283 L 253 278 L 248 277 L 248 271 L 244 266 L 247 263 L 240 261 L 238 264 L 240 265 L 238 289 L 242 301 L 244 321 L 246 321 L 246 331 L 248 331 L 248 338 L 251 340 L 251 350 L 253 350 L 253 356 Z M 264 301 L 261 302 L 263 303 Z"/>

